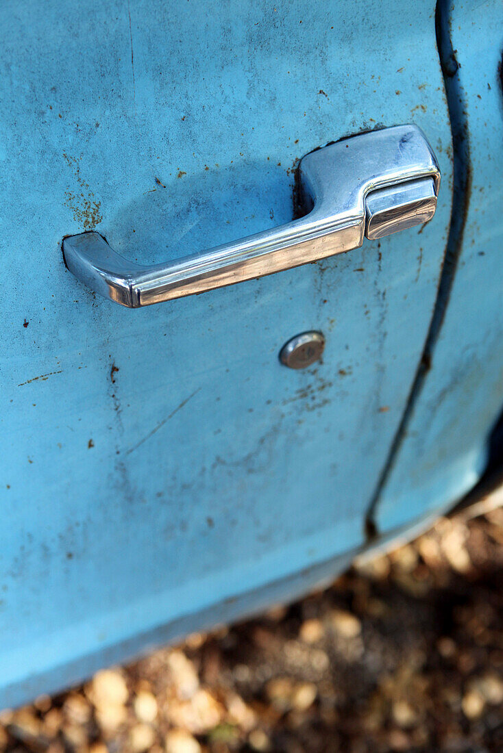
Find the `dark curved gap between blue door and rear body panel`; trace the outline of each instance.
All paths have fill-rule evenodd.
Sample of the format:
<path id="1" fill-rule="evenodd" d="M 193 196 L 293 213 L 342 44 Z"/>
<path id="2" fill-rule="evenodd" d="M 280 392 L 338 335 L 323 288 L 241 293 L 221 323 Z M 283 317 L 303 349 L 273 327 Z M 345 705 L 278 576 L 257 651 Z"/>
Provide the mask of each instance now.
<path id="1" fill-rule="evenodd" d="M 410 419 L 413 416 L 414 407 L 416 406 L 419 395 L 425 385 L 428 371 L 431 369 L 431 365 L 434 361 L 435 345 L 443 325 L 443 319 L 445 318 L 446 308 L 452 290 L 452 283 L 454 282 L 455 270 L 458 266 L 459 256 L 462 251 L 463 234 L 468 215 L 468 205 L 470 203 L 471 164 L 468 117 L 466 114 L 465 94 L 459 82 L 459 64 L 455 58 L 455 50 L 452 49 L 449 29 L 449 3 L 450 0 L 438 0 L 435 11 L 437 49 L 440 56 L 440 66 L 442 68 L 447 105 L 449 108 L 454 163 L 452 215 L 449 226 L 449 237 L 447 239 L 446 254 L 443 261 L 442 272 L 440 273 L 437 300 L 434 305 L 434 312 L 431 318 L 428 337 L 426 338 L 425 349 L 421 361 L 419 362 L 419 367 L 416 370 L 416 376 L 413 380 L 413 386 L 410 390 L 400 425 L 397 428 L 397 432 L 391 444 L 391 449 L 388 453 L 388 458 L 382 469 L 382 473 L 376 486 L 376 491 L 374 492 L 367 511 L 367 517 L 365 520 L 365 534 L 367 536 L 367 541 L 372 541 L 377 535 L 379 535 L 379 530 L 376 525 L 376 511 L 379 505 L 379 499 L 382 495 L 382 490 L 388 481 L 391 470 L 394 467 L 394 463 L 397 460 L 397 454 L 409 427 Z"/>

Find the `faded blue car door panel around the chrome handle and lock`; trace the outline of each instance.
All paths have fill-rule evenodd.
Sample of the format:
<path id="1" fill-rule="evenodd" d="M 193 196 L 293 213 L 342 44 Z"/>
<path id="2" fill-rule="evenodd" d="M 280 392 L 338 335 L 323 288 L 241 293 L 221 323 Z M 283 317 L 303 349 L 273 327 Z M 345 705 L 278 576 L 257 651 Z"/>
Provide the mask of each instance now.
<path id="1" fill-rule="evenodd" d="M 2 4 L 0 706 L 335 572 L 422 353 L 452 184 L 434 3 L 208 8 Z M 411 121 L 443 174 L 421 233 L 137 311 L 63 266 L 91 227 L 164 261 L 280 224 L 299 157 Z M 308 329 L 323 364 L 282 367 Z"/>

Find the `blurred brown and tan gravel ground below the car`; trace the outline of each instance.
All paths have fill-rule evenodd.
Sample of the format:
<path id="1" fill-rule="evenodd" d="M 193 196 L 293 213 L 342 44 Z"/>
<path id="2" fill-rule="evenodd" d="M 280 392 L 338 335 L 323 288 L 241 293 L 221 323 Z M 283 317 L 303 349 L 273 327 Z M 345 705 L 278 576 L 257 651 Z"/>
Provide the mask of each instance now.
<path id="1" fill-rule="evenodd" d="M 0 751 L 503 751 L 503 510 L 0 714 Z"/>

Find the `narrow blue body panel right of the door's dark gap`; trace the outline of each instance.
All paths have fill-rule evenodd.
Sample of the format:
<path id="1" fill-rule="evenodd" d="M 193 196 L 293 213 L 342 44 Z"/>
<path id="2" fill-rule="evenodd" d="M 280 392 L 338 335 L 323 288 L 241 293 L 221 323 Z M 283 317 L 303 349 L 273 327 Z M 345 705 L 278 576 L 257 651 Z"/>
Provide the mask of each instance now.
<path id="1" fill-rule="evenodd" d="M 474 486 L 503 405 L 501 2 L 456 2 L 449 31 L 460 66 L 455 127 L 468 135 L 468 211 L 431 370 L 377 505 L 382 532 L 452 505 Z"/>

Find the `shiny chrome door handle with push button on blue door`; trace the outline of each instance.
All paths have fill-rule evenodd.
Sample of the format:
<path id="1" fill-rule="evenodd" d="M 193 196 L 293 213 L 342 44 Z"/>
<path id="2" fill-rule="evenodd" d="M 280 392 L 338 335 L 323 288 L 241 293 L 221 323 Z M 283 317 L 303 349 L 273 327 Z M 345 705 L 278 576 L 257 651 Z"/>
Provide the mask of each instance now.
<path id="1" fill-rule="evenodd" d="M 440 170 L 414 125 L 362 133 L 299 164 L 302 218 L 167 264 L 127 261 L 99 233 L 63 240 L 66 266 L 97 293 L 137 308 L 202 293 L 341 254 L 369 239 L 428 222 Z"/>

